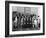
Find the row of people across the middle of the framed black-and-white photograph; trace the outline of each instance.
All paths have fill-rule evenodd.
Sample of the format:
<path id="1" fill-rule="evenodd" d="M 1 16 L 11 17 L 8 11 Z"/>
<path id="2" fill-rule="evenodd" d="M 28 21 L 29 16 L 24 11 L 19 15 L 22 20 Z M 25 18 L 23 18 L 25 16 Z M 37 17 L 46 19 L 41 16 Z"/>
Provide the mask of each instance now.
<path id="1" fill-rule="evenodd" d="M 26 24 L 30 24 L 30 26 L 32 25 L 33 28 L 40 28 L 40 17 L 34 15 L 33 17 L 29 16 L 19 16 L 19 17 L 14 17 L 14 23 L 15 23 L 15 27 L 17 25 L 26 25 Z"/>

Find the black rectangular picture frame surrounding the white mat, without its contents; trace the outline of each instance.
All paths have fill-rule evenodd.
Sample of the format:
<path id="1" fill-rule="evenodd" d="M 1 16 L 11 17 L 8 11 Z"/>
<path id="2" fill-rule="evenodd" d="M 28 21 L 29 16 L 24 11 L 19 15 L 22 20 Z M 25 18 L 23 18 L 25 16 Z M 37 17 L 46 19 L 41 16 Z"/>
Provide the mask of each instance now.
<path id="1" fill-rule="evenodd" d="M 18 34 L 10 35 L 9 34 L 9 4 L 32 4 L 32 5 L 43 5 L 43 33 L 34 33 L 34 34 Z M 18 36 L 35 36 L 35 35 L 44 35 L 45 34 L 45 3 L 37 2 L 19 2 L 19 1 L 5 1 L 5 37 L 18 37 Z"/>

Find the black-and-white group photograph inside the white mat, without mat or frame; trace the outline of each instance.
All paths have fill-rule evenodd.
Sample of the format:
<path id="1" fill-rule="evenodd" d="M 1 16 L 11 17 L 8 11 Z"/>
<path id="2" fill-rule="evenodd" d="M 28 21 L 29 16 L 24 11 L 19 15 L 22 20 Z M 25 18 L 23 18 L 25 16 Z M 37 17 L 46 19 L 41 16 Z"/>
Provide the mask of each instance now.
<path id="1" fill-rule="evenodd" d="M 38 7 L 12 7 L 12 31 L 40 30 Z"/>

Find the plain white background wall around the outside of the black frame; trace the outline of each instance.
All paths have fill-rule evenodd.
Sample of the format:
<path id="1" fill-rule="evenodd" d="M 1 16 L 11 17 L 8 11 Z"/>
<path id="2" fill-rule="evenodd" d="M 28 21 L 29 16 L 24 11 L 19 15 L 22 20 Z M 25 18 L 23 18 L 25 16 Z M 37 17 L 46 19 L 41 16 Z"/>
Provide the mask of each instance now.
<path id="1" fill-rule="evenodd" d="M 16 0 L 16 1 L 45 2 L 45 7 L 46 7 L 46 0 Z M 46 28 L 45 28 L 45 32 L 46 32 Z M 0 38 L 5 38 L 5 0 L 0 0 Z M 14 37 L 14 38 L 46 38 L 46 33 L 45 35 L 42 35 L 42 36 L 41 35 L 40 36 L 25 36 L 25 37 Z"/>

